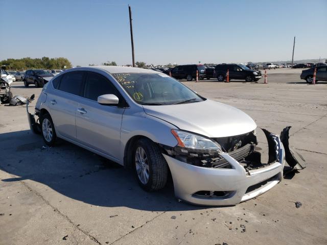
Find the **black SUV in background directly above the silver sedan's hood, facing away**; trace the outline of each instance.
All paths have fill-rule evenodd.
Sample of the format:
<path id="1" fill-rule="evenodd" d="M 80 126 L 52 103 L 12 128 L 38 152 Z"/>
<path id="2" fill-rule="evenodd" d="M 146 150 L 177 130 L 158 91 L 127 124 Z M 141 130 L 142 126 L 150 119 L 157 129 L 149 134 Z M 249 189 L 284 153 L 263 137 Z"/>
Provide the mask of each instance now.
<path id="1" fill-rule="evenodd" d="M 171 74 L 173 78 L 192 81 L 192 79 L 196 79 L 196 71 L 198 71 L 199 79 L 203 79 L 205 76 L 204 65 L 178 65 L 171 70 Z"/>

